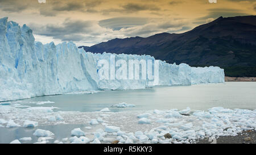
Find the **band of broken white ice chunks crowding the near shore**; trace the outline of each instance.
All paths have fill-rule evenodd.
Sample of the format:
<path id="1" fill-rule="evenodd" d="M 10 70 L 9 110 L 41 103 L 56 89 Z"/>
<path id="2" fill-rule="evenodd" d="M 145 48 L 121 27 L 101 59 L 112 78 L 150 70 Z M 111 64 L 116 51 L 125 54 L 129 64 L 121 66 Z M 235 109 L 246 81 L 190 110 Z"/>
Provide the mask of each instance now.
<path id="1" fill-rule="evenodd" d="M 49 139 L 58 143 L 112 143 L 115 140 L 119 143 L 196 143 L 209 137 L 236 136 L 256 127 L 256 110 L 213 107 L 207 111 L 187 108 L 112 112 L 105 108 L 96 112 L 54 112 L 55 108 L 2 105 L 0 127 L 87 125 L 72 129 L 61 139 L 55 139 L 57 133 L 38 128 L 34 132 L 38 143 L 49 143 Z M 170 137 L 166 138 L 168 135 Z"/>

